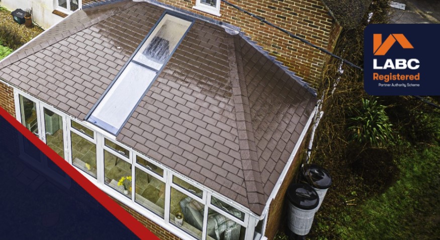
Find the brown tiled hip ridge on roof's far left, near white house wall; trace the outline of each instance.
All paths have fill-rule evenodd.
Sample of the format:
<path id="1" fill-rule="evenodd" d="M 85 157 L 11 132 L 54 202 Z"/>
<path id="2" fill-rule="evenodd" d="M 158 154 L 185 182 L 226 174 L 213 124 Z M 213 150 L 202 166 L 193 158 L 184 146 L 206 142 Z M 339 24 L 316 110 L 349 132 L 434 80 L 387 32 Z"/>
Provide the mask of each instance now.
<path id="1" fill-rule="evenodd" d="M 28 46 L 25 46 L 24 48 L 18 50 L 17 53 L 14 54 L 13 56 L 11 56 L 10 58 L 5 59 L 5 61 L 0 62 L 0 68 L 7 67 L 7 66 L 9 66 L 11 64 L 14 64 L 14 63 L 20 61 L 20 60 L 23 60 L 24 58 L 26 58 L 26 57 L 28 57 L 28 56 L 30 56 L 32 54 L 35 54 L 35 53 L 37 53 L 37 52 L 39 52 L 41 50 L 44 50 L 44 49 L 52 46 L 53 44 L 55 44 L 55 43 L 57 43 L 57 42 L 59 42 L 59 41 L 61 41 L 63 39 L 66 39 L 66 38 L 68 38 L 68 37 L 70 37 L 70 36 L 72 36 L 72 35 L 74 35 L 74 34 L 76 34 L 78 32 L 81 32 L 84 29 L 90 28 L 91 26 L 93 26 L 95 24 L 98 24 L 99 22 L 101 22 L 101 21 L 103 21 L 103 20 L 105 20 L 107 18 L 110 18 L 111 16 L 114 16 L 117 13 L 120 13 L 120 12 L 126 10 L 127 8 L 130 8 L 130 7 L 138 4 L 136 2 L 129 2 L 129 3 L 131 3 L 131 4 L 127 4 L 127 5 L 121 6 L 121 7 L 117 8 L 117 9 L 115 9 L 114 11 L 111 11 L 108 14 L 101 15 L 101 16 L 95 18 L 95 19 L 92 19 L 89 22 L 86 22 L 86 24 L 82 24 L 81 23 L 81 24 L 78 24 L 78 26 L 76 26 L 76 27 L 74 27 L 72 29 L 66 29 L 64 31 L 61 31 L 59 34 L 57 34 L 56 37 L 52 37 L 51 39 L 49 39 L 47 41 L 44 41 L 44 42 L 42 42 L 42 43 L 40 43 L 40 44 L 38 44 L 36 46 L 33 46 L 31 48 L 27 48 Z M 67 18 L 63 19 L 61 22 L 70 20 L 70 18 L 73 18 L 73 17 L 77 17 L 77 16 L 79 17 L 79 13 L 81 13 L 81 11 L 85 12 L 83 10 L 75 11 L 72 15 L 69 15 Z M 55 26 L 58 26 L 59 24 L 60 23 L 56 24 Z M 41 38 L 41 37 L 45 36 L 45 34 L 49 34 L 52 31 L 57 31 L 57 30 L 58 29 L 55 29 L 55 28 L 48 29 L 47 31 L 44 31 L 43 33 L 38 35 L 36 38 L 34 38 L 34 40 L 36 41 L 36 40 L 38 40 L 37 38 Z"/>

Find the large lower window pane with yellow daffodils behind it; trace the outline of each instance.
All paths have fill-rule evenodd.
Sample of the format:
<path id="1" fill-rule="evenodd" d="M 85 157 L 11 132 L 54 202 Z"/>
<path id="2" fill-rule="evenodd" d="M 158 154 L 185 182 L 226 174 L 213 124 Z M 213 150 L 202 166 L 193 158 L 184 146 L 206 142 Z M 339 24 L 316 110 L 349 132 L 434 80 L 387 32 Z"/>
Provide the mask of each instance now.
<path id="1" fill-rule="evenodd" d="M 104 150 L 106 185 L 131 198 L 131 164 Z"/>

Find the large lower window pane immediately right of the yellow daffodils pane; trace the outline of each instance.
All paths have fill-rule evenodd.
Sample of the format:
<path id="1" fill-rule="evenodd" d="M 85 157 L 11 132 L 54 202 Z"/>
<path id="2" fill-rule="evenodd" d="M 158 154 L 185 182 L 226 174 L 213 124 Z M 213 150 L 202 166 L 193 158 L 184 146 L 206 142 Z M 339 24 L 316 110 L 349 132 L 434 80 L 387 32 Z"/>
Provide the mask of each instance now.
<path id="1" fill-rule="evenodd" d="M 136 168 L 135 201 L 163 218 L 165 183 Z"/>

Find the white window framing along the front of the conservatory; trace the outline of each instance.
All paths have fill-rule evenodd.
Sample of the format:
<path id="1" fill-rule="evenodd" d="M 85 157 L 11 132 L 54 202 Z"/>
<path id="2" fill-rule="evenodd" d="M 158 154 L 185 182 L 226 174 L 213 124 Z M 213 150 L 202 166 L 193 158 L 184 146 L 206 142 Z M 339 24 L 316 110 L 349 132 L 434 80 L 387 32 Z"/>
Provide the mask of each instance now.
<path id="1" fill-rule="evenodd" d="M 164 229 L 166 229 L 166 230 L 170 231 L 171 233 L 173 233 L 181 238 L 184 238 L 184 239 L 197 239 L 197 238 L 193 237 L 192 235 L 190 235 L 189 233 L 182 230 L 181 228 L 174 226 L 173 224 L 170 223 L 169 209 L 170 209 L 170 198 L 171 198 L 170 193 L 171 193 L 171 187 L 172 187 L 172 188 L 178 190 L 179 192 L 182 192 L 188 196 L 191 196 L 196 201 L 204 204 L 203 228 L 202 228 L 202 233 L 201 233 L 202 240 L 211 239 L 211 238 L 207 238 L 207 233 L 206 233 L 207 225 L 208 225 L 208 211 L 209 211 L 209 209 L 212 209 L 212 210 L 216 211 L 218 214 L 221 214 L 221 215 L 227 217 L 228 219 L 234 221 L 235 223 L 238 223 L 240 226 L 245 227 L 245 235 L 244 235 L 245 240 L 258 240 L 258 239 L 254 239 L 253 235 L 254 235 L 254 228 L 255 228 L 260 216 L 255 215 L 248 208 L 241 206 L 240 204 L 232 201 L 231 199 L 228 199 L 228 198 L 224 197 L 223 195 L 220 195 L 219 193 L 205 187 L 204 185 L 202 185 L 194 180 L 191 180 L 190 178 L 183 176 L 182 174 L 180 174 L 178 172 L 175 172 L 173 169 L 170 169 L 170 168 L 160 164 L 159 162 L 154 161 L 154 159 L 151 159 L 150 157 L 139 153 L 138 151 L 134 150 L 133 148 L 126 146 L 125 144 L 117 141 L 115 136 L 96 127 L 95 125 L 93 125 L 89 122 L 86 122 L 86 121 L 80 121 L 78 119 L 75 119 L 65 113 L 62 113 L 61 111 L 57 110 L 56 108 L 54 108 L 50 105 L 41 102 L 40 100 L 30 96 L 29 94 L 14 88 L 17 120 L 21 121 L 21 114 L 20 114 L 21 109 L 20 109 L 19 95 L 22 95 L 23 97 L 26 97 L 29 100 L 36 103 L 36 108 L 37 108 L 37 113 L 38 113 L 37 117 L 38 117 L 38 122 L 40 125 L 38 137 L 41 140 L 45 141 L 45 135 L 43 134 L 44 131 L 41 130 L 44 128 L 44 126 L 41 126 L 41 125 L 44 125 L 42 123 L 42 121 L 44 121 L 43 109 L 46 108 L 46 109 L 58 114 L 63 119 L 63 131 L 64 131 L 63 140 L 64 140 L 64 148 L 65 148 L 64 149 L 65 160 L 70 165 L 72 165 L 72 159 L 71 159 L 72 149 L 71 149 L 71 136 L 70 136 L 71 132 L 74 132 L 75 134 L 78 134 L 79 136 L 84 137 L 85 139 L 95 143 L 96 148 L 97 148 L 96 149 L 96 152 L 97 152 L 97 155 L 96 155 L 96 158 L 97 158 L 97 179 L 95 179 L 91 175 L 83 172 L 82 170 L 76 168 L 75 166 L 73 166 L 73 165 L 72 166 L 75 169 L 77 169 L 77 171 L 80 172 L 85 178 L 89 179 L 92 183 L 94 183 L 97 187 L 99 187 L 101 190 L 106 192 L 108 195 L 114 197 L 118 201 L 120 201 L 123 204 L 132 208 L 133 210 L 135 210 L 135 211 L 139 212 L 140 214 L 144 215 L 145 217 L 151 219 L 152 221 L 154 221 L 156 224 L 160 225 Z M 71 121 L 74 121 L 74 122 L 76 122 L 86 128 L 89 128 L 90 130 L 92 130 L 93 131 L 93 139 L 89 135 L 86 135 L 83 132 L 74 129 L 71 126 Z M 106 138 L 108 140 L 110 140 L 111 142 L 116 143 L 117 145 L 128 150 L 129 157 L 126 157 L 123 154 L 119 153 L 118 151 L 114 150 L 113 148 L 106 146 L 105 145 Z M 111 152 L 112 154 L 123 159 L 123 161 L 131 164 L 131 171 L 132 171 L 131 172 L 131 174 L 132 174 L 132 186 L 131 187 L 133 189 L 131 191 L 131 194 L 132 194 L 131 199 L 128 198 L 127 196 L 124 196 L 123 193 L 106 185 L 105 178 L 104 178 L 104 168 L 105 168 L 104 167 L 104 150 Z M 158 168 L 160 168 L 161 170 L 163 170 L 162 177 L 159 174 L 155 173 L 154 171 L 151 171 L 148 168 L 145 168 L 143 165 L 137 163 L 136 156 L 140 156 L 141 158 L 143 158 L 144 160 L 146 160 L 150 164 L 153 164 L 153 165 L 157 166 Z M 49 159 L 47 159 L 47 161 L 49 161 Z M 47 168 L 47 164 L 39 167 L 39 169 L 41 169 L 41 168 L 44 170 L 45 168 Z M 163 218 L 161 216 L 157 215 L 156 213 L 153 213 L 148 208 L 146 208 L 145 206 L 143 206 L 135 201 L 135 181 L 136 181 L 135 170 L 136 170 L 136 168 L 140 169 L 143 172 L 146 172 L 147 174 L 150 174 L 151 176 L 154 176 L 154 178 L 165 183 L 165 204 L 164 204 L 164 217 Z M 44 171 L 42 171 L 42 172 L 44 172 Z M 173 183 L 173 181 L 172 181 L 173 177 L 177 177 L 180 180 L 183 180 L 183 181 L 193 185 L 194 187 L 202 190 L 202 198 L 197 197 L 197 195 L 195 195 L 191 191 L 188 191 L 186 188 L 181 187 L 178 184 Z M 58 179 L 56 181 L 62 182 L 63 179 Z M 237 210 L 242 211 L 245 214 L 244 219 L 241 220 L 241 219 L 233 216 L 229 212 L 212 204 L 211 203 L 212 196 L 216 197 L 217 199 L 221 200 L 222 202 L 229 204 L 231 207 L 234 207 Z M 267 214 L 264 217 L 267 217 Z M 267 222 L 267 220 L 265 220 L 264 225 L 266 225 L 266 222 Z M 262 236 L 264 235 L 265 228 L 266 227 L 263 227 Z M 264 239 L 264 237 L 262 237 L 261 239 Z"/>

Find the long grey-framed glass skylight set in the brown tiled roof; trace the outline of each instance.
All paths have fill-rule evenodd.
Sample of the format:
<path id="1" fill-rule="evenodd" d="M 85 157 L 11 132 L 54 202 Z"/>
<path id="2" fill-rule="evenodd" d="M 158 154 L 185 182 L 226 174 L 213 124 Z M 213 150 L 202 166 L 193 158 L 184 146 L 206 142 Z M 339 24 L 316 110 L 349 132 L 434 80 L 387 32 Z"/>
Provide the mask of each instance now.
<path id="1" fill-rule="evenodd" d="M 87 121 L 117 135 L 193 24 L 169 13 L 136 49 Z"/>

